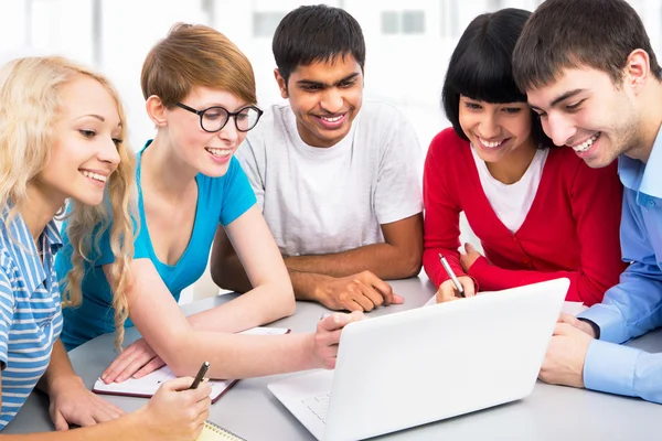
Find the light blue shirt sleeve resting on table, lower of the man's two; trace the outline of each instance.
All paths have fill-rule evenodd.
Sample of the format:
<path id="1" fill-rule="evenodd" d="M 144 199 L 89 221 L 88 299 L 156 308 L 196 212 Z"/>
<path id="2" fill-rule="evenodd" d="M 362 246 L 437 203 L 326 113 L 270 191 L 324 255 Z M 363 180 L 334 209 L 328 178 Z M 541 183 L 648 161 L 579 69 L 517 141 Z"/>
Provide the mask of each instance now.
<path id="1" fill-rule="evenodd" d="M 662 404 L 662 354 L 594 340 L 584 363 L 587 389 Z"/>

